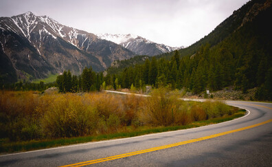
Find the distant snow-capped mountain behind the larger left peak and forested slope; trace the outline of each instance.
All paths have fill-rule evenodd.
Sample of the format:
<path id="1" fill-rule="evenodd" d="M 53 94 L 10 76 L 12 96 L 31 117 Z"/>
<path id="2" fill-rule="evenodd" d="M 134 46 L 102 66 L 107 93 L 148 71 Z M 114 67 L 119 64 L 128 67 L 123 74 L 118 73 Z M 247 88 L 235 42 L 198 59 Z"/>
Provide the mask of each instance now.
<path id="1" fill-rule="evenodd" d="M 155 56 L 166 52 L 172 52 L 183 47 L 170 47 L 163 44 L 154 43 L 146 38 L 133 34 L 97 34 L 98 38 L 112 41 L 118 45 L 126 47 L 135 54 Z"/>

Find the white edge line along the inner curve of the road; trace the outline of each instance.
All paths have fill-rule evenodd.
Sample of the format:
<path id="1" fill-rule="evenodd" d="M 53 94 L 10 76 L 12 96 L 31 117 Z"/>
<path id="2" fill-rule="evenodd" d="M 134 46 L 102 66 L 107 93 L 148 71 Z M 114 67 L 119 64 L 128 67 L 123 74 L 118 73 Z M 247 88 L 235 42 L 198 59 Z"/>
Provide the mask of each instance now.
<path id="1" fill-rule="evenodd" d="M 231 105 L 231 104 L 229 104 L 229 105 Z M 231 105 L 231 106 L 233 106 L 233 105 Z M 245 109 L 245 108 L 242 108 L 242 107 L 239 107 L 239 108 L 240 109 Z M 240 120 L 242 118 L 247 117 L 250 114 L 250 111 L 248 109 L 245 109 L 245 110 L 247 111 L 247 115 L 244 115 L 244 116 L 242 116 L 240 118 L 235 118 L 234 120 L 220 122 L 218 124 L 225 124 L 225 123 L 228 123 L 228 122 Z M 204 128 L 204 127 L 214 126 L 214 125 L 218 125 L 218 124 L 209 124 L 209 125 L 200 126 L 200 127 L 196 127 L 196 128 L 181 129 L 181 130 L 177 130 L 177 131 L 166 131 L 166 132 L 161 132 L 161 133 L 151 133 L 151 134 L 139 135 L 139 136 L 135 136 L 135 137 L 125 137 L 125 138 L 122 138 L 122 139 L 115 139 L 115 140 L 113 139 L 113 140 L 104 140 L 104 141 L 100 141 L 100 142 L 87 142 L 87 143 L 84 143 L 84 144 L 71 144 L 70 146 L 58 146 L 58 147 L 54 147 L 54 148 L 45 148 L 45 149 L 36 150 L 36 151 L 26 151 L 26 152 L 22 152 L 22 153 L 13 153 L 13 154 L 0 155 L 0 157 L 7 157 L 7 156 L 11 156 L 11 155 L 20 155 L 20 154 L 26 154 L 26 153 L 35 153 L 35 152 L 39 152 L 39 151 L 51 151 L 51 150 L 56 150 L 56 149 L 61 149 L 61 148 L 70 148 L 70 147 L 75 147 L 75 146 L 86 146 L 86 145 L 90 145 L 90 144 L 100 144 L 100 143 L 106 143 L 106 142 L 116 142 L 116 141 L 120 141 L 120 140 L 130 140 L 130 139 L 135 139 L 135 138 L 139 138 L 139 137 L 149 137 L 149 136 L 152 136 L 152 135 L 161 135 L 161 134 L 181 132 L 181 131 L 190 131 L 192 129 L 201 129 L 201 128 Z"/>

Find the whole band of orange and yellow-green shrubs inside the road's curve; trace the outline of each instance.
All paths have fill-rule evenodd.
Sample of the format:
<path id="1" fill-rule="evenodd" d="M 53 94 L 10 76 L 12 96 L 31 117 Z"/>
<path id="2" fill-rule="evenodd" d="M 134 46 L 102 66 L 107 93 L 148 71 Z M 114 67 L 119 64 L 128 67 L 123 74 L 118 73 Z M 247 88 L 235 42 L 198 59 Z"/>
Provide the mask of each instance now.
<path id="1" fill-rule="evenodd" d="M 185 102 L 177 91 L 159 88 L 151 96 L 111 93 L 0 93 L 0 138 L 11 141 L 98 135 L 126 126 L 170 126 L 231 115 L 223 102 Z"/>

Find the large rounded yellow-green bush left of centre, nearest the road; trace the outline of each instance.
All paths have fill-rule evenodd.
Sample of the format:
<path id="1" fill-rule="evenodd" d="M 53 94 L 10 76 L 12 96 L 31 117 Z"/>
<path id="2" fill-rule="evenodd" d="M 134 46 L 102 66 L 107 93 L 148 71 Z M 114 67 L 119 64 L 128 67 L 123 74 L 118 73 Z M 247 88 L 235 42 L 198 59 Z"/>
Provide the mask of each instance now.
<path id="1" fill-rule="evenodd" d="M 67 93 L 58 95 L 45 110 L 42 128 L 51 137 L 89 135 L 95 129 L 97 112 L 85 105 L 82 97 Z"/>

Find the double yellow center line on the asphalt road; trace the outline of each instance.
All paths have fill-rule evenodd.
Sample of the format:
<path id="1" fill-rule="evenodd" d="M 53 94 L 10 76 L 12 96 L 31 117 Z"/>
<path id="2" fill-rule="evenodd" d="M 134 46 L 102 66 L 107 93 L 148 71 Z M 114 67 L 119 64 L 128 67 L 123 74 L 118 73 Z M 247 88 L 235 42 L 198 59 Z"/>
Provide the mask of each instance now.
<path id="1" fill-rule="evenodd" d="M 267 107 L 265 107 L 265 108 L 267 108 Z M 158 147 L 154 147 L 154 148 L 148 148 L 146 150 L 135 151 L 135 152 L 125 153 L 125 154 L 121 154 L 121 155 L 114 155 L 114 156 L 105 157 L 105 158 L 102 158 L 102 159 L 94 159 L 94 160 L 90 160 L 90 161 L 87 161 L 87 162 L 79 162 L 79 163 L 76 163 L 76 164 L 66 165 L 66 167 L 68 167 L 68 166 L 87 166 L 87 165 L 90 165 L 90 164 L 97 164 L 97 163 L 100 163 L 100 162 L 111 161 L 113 159 L 120 159 L 120 158 L 123 158 L 123 157 L 131 157 L 133 155 L 139 155 L 139 154 L 148 153 L 148 152 L 152 152 L 152 151 L 158 151 L 158 150 L 162 150 L 162 149 L 166 149 L 166 148 L 171 148 L 171 147 L 174 147 L 174 146 L 181 146 L 183 144 L 189 144 L 189 143 L 192 143 L 192 142 L 199 142 L 201 140 L 207 140 L 207 139 L 211 139 L 211 138 L 218 137 L 218 136 L 221 136 L 221 135 L 227 135 L 229 133 L 244 131 L 246 129 L 251 129 L 251 128 L 254 128 L 256 126 L 260 126 L 262 124 L 267 124 L 269 122 L 272 122 L 272 119 L 264 121 L 264 122 L 260 122 L 258 124 L 253 124 L 251 126 L 246 126 L 246 127 L 240 128 L 240 129 L 235 129 L 235 130 L 232 130 L 232 131 L 226 131 L 226 132 L 223 132 L 223 133 L 217 133 L 217 134 L 214 134 L 214 135 L 200 137 L 200 138 L 197 138 L 197 139 L 194 139 L 194 140 L 188 140 L 188 141 L 184 141 L 184 142 L 168 144 L 168 145 L 165 145 L 165 146 L 158 146 Z"/>

